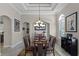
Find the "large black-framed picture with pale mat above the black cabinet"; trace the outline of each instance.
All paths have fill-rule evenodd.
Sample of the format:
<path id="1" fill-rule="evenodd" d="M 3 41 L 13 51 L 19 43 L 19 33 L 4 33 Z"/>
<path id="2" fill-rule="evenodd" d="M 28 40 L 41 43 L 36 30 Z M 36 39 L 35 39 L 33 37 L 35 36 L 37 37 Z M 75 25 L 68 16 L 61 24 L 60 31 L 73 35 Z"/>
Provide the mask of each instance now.
<path id="1" fill-rule="evenodd" d="M 77 32 L 77 12 L 65 18 L 65 30 L 66 32 Z"/>

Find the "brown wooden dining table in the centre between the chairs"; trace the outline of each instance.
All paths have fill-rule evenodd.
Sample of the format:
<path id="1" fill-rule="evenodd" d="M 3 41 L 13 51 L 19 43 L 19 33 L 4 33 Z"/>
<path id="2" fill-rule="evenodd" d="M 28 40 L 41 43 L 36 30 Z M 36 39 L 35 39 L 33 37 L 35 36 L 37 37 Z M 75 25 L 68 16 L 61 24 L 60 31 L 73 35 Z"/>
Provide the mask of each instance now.
<path id="1" fill-rule="evenodd" d="M 38 53 L 39 55 L 39 52 L 41 52 L 41 54 L 39 56 L 42 56 L 42 55 L 46 55 L 46 49 L 48 47 L 48 39 L 33 39 L 32 40 L 32 47 L 33 47 L 33 55 L 36 56 L 36 54 Z"/>

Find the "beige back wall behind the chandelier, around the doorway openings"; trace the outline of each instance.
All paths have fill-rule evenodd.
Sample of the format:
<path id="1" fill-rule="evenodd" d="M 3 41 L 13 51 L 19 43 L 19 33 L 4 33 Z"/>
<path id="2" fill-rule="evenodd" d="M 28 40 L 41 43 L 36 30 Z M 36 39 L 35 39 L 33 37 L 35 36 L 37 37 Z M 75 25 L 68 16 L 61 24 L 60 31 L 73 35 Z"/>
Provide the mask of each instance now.
<path id="1" fill-rule="evenodd" d="M 30 23 L 31 37 L 34 34 L 33 24 L 38 21 L 38 15 L 22 15 L 23 22 Z M 56 20 L 54 15 L 41 15 L 41 20 L 50 24 L 50 34 L 56 36 Z"/>

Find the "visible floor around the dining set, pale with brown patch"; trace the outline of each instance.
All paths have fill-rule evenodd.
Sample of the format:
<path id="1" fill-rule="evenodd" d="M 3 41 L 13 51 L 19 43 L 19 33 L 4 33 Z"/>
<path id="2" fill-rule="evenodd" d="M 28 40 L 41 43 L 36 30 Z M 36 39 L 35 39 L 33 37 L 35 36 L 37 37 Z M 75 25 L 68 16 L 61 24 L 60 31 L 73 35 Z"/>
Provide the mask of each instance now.
<path id="1" fill-rule="evenodd" d="M 27 53 L 24 54 L 25 51 L 23 48 L 24 47 L 22 44 L 15 48 L 11 48 L 11 47 L 2 48 L 1 54 L 2 54 L 2 56 L 32 56 L 32 51 L 27 51 Z M 58 48 L 56 48 L 56 49 L 58 49 Z M 47 56 L 53 56 L 53 53 L 47 52 Z M 60 56 L 60 54 L 57 51 L 55 51 L 55 56 Z"/>

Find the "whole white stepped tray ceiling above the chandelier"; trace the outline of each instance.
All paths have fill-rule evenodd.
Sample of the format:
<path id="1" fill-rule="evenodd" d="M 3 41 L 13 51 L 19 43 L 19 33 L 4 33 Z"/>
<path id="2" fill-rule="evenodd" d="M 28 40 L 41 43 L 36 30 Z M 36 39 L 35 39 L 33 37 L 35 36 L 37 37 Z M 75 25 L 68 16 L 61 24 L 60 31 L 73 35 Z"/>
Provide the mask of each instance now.
<path id="1" fill-rule="evenodd" d="M 56 14 L 67 4 L 64 3 L 12 3 L 10 4 L 21 14 Z M 39 8 L 40 7 L 40 8 Z"/>

